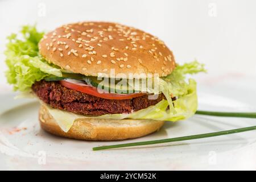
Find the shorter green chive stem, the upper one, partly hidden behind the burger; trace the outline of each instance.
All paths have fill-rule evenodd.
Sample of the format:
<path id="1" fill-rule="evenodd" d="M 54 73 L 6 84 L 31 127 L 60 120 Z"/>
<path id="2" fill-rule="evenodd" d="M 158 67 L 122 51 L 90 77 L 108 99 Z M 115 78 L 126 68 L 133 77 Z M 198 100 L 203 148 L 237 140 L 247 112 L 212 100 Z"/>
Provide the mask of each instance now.
<path id="1" fill-rule="evenodd" d="M 256 118 L 256 113 L 232 113 L 232 112 L 214 112 L 197 110 L 196 114 L 213 115 L 220 117 L 238 117 L 238 118 Z"/>

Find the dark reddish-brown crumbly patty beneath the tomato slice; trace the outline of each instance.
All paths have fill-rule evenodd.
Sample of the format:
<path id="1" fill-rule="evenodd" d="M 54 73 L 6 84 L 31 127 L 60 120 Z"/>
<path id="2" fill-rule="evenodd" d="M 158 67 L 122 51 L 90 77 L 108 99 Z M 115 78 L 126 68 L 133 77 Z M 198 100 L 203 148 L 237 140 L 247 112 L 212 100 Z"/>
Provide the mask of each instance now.
<path id="1" fill-rule="evenodd" d="M 156 100 L 148 100 L 147 95 L 127 100 L 107 100 L 65 88 L 57 81 L 36 82 L 32 85 L 32 90 L 40 100 L 55 109 L 93 116 L 131 113 L 131 111 L 146 109 L 151 105 L 156 105 L 165 99 L 163 94 L 159 94 Z"/>

